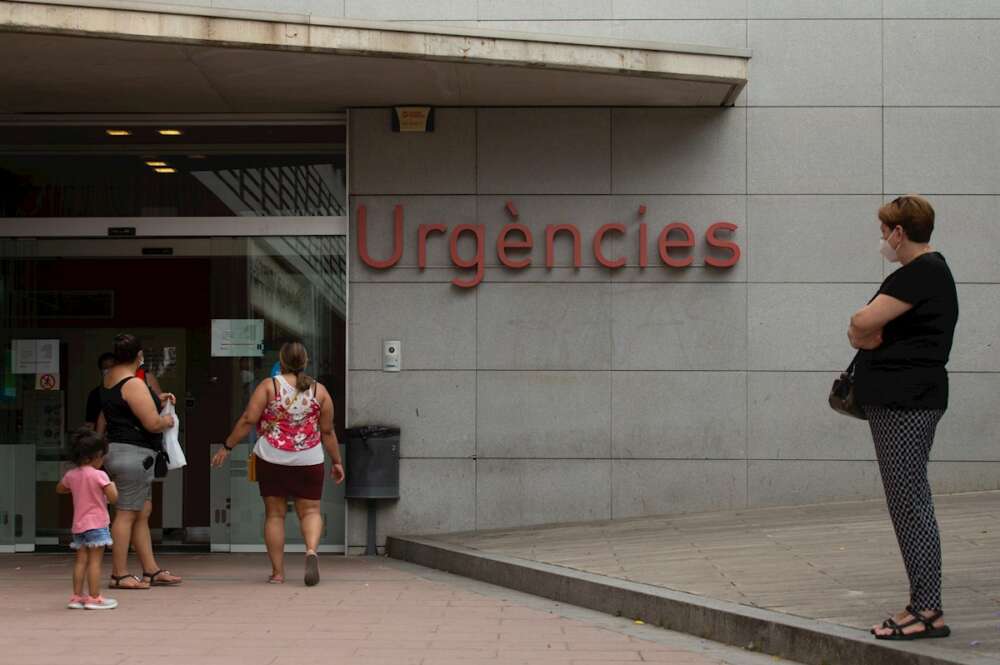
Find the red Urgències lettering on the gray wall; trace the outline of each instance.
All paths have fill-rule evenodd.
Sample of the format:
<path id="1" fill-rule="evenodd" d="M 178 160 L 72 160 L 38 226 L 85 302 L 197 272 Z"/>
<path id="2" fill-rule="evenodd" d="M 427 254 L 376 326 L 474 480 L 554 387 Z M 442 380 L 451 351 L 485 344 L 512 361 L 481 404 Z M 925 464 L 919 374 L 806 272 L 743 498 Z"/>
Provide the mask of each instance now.
<path id="1" fill-rule="evenodd" d="M 507 210 L 517 217 L 513 204 L 507 204 Z M 645 213 L 645 206 L 640 208 L 640 214 Z M 374 259 L 368 253 L 368 211 L 366 206 L 358 206 L 357 216 L 357 236 L 358 255 L 366 265 L 377 270 L 392 268 L 403 256 L 403 206 L 397 205 L 393 209 L 393 241 L 392 256 L 387 259 Z M 740 260 L 740 246 L 732 240 L 720 238 L 721 233 L 730 235 L 738 227 L 732 222 L 714 222 L 705 231 L 705 242 L 709 247 L 719 250 L 725 256 L 713 256 L 706 254 L 705 265 L 713 268 L 731 268 Z M 626 235 L 624 224 L 605 224 L 597 229 L 591 241 L 594 259 L 605 268 L 616 270 L 626 265 L 625 257 L 608 258 L 604 254 L 603 242 L 605 237 L 612 233 Z M 434 234 L 448 235 L 446 224 L 420 224 L 417 227 L 417 265 L 423 269 L 427 267 L 427 242 Z M 458 241 L 463 234 L 471 235 L 476 242 L 476 253 L 472 257 L 462 257 L 458 253 Z M 580 229 L 575 224 L 549 224 L 545 227 L 545 267 L 555 266 L 554 245 L 556 236 L 562 234 L 573 241 L 573 266 L 579 268 L 581 265 L 581 243 Z M 645 223 L 639 224 L 637 243 L 639 246 L 639 267 L 645 268 L 649 265 L 648 256 L 649 230 Z M 501 265 L 514 270 L 527 268 L 531 265 L 531 251 L 534 248 L 534 236 L 524 224 L 514 222 L 505 224 L 497 234 L 496 250 L 497 258 Z M 456 277 L 452 284 L 462 288 L 472 288 L 483 281 L 486 258 L 486 225 L 485 224 L 458 224 L 451 229 L 449 243 L 451 248 L 451 262 L 457 268 L 475 270 L 475 273 L 468 279 Z M 671 222 L 661 230 L 657 240 L 660 261 L 669 268 L 687 268 L 694 263 L 694 257 L 690 250 L 695 246 L 694 230 L 684 222 Z M 518 254 L 519 256 L 512 256 Z"/>

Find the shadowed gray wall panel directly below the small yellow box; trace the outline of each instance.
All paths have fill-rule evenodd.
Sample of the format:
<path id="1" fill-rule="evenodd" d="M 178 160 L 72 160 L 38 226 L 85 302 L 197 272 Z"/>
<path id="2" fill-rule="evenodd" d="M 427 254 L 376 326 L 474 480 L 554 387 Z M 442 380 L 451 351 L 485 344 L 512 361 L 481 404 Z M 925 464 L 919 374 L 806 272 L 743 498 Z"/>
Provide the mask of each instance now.
<path id="1" fill-rule="evenodd" d="M 353 195 L 475 192 L 473 109 L 436 109 L 434 131 L 425 134 L 393 132 L 391 113 L 351 111 Z"/>

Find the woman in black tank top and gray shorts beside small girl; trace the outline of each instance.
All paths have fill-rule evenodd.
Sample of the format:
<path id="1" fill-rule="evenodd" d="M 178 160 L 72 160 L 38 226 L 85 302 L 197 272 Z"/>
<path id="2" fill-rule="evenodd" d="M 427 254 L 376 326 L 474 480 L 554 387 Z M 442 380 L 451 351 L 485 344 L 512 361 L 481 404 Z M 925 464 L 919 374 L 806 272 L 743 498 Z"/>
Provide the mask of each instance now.
<path id="1" fill-rule="evenodd" d="M 173 416 L 161 416 L 163 402 L 175 402 L 170 393 L 157 395 L 136 377 L 142 365 L 142 344 L 134 335 L 115 337 L 115 365 L 101 385 L 101 415 L 97 431 L 107 433 L 105 466 L 118 485 L 111 585 L 116 589 L 148 589 L 151 585 L 180 584 L 181 578 L 163 570 L 153 555 L 149 516 L 153 512 L 153 464 L 163 446 L 162 432 L 173 427 Z M 142 577 L 128 572 L 129 545 L 142 564 Z M 148 581 L 147 581 L 148 580 Z"/>

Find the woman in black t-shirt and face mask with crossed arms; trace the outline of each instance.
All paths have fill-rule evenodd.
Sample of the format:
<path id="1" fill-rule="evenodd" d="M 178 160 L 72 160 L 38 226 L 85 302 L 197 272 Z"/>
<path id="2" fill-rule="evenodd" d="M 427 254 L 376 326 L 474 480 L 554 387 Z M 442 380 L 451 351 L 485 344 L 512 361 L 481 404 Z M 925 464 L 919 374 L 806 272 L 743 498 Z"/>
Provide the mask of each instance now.
<path id="1" fill-rule="evenodd" d="M 941 541 L 927 479 L 938 421 L 948 408 L 948 373 L 958 322 L 951 270 L 929 242 L 934 209 L 901 196 L 878 211 L 880 251 L 902 264 L 851 317 L 848 338 L 860 349 L 858 401 L 875 441 L 882 485 L 910 580 L 910 604 L 872 628 L 878 639 L 947 637 L 941 606 Z"/>

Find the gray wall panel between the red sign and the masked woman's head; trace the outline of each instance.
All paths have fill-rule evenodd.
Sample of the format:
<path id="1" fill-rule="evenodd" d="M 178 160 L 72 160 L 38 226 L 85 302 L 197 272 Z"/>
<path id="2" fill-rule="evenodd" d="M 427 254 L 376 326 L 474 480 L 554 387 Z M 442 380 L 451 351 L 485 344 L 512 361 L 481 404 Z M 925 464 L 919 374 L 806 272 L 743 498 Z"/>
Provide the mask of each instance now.
<path id="1" fill-rule="evenodd" d="M 753 282 L 881 282 L 881 196 L 751 196 Z"/>

